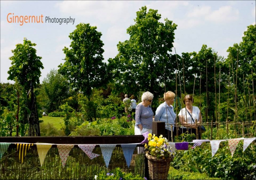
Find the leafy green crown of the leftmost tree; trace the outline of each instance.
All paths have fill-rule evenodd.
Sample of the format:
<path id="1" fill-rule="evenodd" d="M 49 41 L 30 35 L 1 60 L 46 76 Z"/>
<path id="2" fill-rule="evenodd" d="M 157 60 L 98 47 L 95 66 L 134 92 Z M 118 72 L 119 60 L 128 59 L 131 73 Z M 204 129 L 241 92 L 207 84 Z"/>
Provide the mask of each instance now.
<path id="1" fill-rule="evenodd" d="M 40 84 L 40 69 L 44 69 L 43 63 L 40 61 L 42 57 L 36 56 L 36 49 L 33 46 L 36 46 L 36 43 L 31 43 L 24 38 L 23 44 L 16 44 L 16 48 L 12 50 L 13 56 L 9 58 L 12 61 L 12 66 L 9 68 L 7 79 L 14 80 L 17 77 L 25 90 L 30 89 L 31 82 L 34 88 Z"/>

